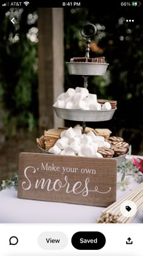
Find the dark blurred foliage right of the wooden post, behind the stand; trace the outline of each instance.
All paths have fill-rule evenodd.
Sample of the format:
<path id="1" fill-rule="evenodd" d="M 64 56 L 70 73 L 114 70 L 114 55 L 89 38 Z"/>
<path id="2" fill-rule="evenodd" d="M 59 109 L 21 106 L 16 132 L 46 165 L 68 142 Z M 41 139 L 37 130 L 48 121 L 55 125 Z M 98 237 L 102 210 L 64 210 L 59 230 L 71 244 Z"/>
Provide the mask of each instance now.
<path id="1" fill-rule="evenodd" d="M 132 10 L 128 10 L 132 15 Z M 65 61 L 73 57 L 84 57 L 85 40 L 81 38 L 80 29 L 89 21 L 96 25 L 98 32 L 93 38 L 96 42 L 90 57 L 105 56 L 108 77 L 90 77 L 88 90 L 99 98 L 118 101 L 118 110 L 111 120 L 111 127 L 143 127 L 139 109 L 143 101 L 143 34 L 142 18 L 139 10 L 134 10 L 136 21 L 126 23 L 127 9 L 113 10 L 98 2 L 94 8 L 64 9 L 65 22 Z M 129 16 L 130 16 L 129 15 Z M 101 51 L 102 50 L 102 51 Z M 80 76 L 69 76 L 65 72 L 65 90 L 69 87 L 83 86 Z M 133 113 L 135 115 L 133 116 Z"/>

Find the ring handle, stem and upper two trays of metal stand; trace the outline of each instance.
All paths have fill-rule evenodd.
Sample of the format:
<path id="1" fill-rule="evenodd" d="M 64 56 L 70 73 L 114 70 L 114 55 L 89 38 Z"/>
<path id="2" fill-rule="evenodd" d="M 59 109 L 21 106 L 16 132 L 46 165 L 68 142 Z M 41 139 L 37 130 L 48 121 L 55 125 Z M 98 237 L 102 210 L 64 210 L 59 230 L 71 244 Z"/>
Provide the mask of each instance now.
<path id="1" fill-rule="evenodd" d="M 96 34 L 96 27 L 93 24 L 86 24 L 81 29 L 81 35 L 86 40 L 85 57 L 90 58 L 90 41 Z M 84 88 L 88 87 L 88 77 L 89 76 L 104 76 L 107 70 L 108 63 L 96 63 L 96 62 L 67 62 L 68 73 L 72 75 L 79 75 L 84 77 Z M 82 121 L 83 133 L 85 132 L 86 121 L 107 121 L 110 120 L 116 108 L 111 110 L 76 110 L 76 109 L 66 109 L 58 108 L 53 106 L 56 115 L 59 118 L 72 120 L 72 121 Z"/>

